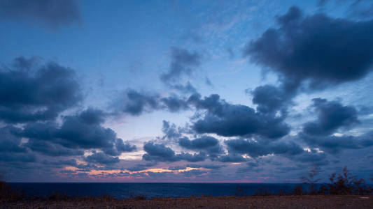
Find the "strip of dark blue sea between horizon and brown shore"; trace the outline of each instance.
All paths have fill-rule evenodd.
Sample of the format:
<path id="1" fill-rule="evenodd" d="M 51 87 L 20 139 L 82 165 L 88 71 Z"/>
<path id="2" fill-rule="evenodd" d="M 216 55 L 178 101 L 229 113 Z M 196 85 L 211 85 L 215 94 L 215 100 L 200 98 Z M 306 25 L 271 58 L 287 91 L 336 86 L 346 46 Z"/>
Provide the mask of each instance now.
<path id="1" fill-rule="evenodd" d="M 297 184 L 260 183 L 10 183 L 25 194 L 48 196 L 52 193 L 69 196 L 102 196 L 110 194 L 117 199 L 143 195 L 153 197 L 183 196 L 234 196 L 237 185 L 241 194 L 253 195 L 260 188 L 277 194 L 280 191 L 293 192 Z"/>

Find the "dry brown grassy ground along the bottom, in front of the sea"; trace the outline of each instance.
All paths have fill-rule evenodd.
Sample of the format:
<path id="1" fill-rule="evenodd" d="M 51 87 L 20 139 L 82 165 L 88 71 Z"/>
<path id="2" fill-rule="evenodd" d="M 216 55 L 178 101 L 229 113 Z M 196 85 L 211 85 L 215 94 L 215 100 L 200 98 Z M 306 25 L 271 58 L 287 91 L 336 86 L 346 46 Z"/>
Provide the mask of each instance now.
<path id="1" fill-rule="evenodd" d="M 373 196 L 245 196 L 2 202 L 0 208 L 373 208 Z"/>

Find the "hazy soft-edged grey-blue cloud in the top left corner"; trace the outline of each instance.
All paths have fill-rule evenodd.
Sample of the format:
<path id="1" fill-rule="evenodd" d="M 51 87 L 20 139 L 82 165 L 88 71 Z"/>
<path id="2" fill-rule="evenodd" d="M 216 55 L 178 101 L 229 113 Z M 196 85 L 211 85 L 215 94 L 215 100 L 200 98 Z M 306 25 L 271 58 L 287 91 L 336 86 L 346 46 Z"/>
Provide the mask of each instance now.
<path id="1" fill-rule="evenodd" d="M 0 1 L 0 20 L 41 22 L 56 29 L 80 22 L 80 11 L 75 0 Z"/>

